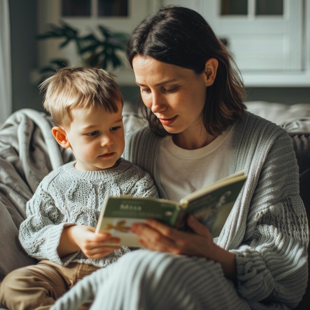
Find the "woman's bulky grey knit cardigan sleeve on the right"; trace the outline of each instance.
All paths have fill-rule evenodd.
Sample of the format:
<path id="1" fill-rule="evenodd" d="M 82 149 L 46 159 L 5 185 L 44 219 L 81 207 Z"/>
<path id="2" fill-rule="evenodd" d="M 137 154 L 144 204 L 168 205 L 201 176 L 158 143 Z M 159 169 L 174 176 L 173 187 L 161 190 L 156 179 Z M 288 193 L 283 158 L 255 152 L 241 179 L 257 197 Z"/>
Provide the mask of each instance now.
<path id="1" fill-rule="evenodd" d="M 259 173 L 247 227 L 236 254 L 239 294 L 257 302 L 301 300 L 308 280 L 308 222 L 298 166 L 286 133 L 275 139 Z"/>

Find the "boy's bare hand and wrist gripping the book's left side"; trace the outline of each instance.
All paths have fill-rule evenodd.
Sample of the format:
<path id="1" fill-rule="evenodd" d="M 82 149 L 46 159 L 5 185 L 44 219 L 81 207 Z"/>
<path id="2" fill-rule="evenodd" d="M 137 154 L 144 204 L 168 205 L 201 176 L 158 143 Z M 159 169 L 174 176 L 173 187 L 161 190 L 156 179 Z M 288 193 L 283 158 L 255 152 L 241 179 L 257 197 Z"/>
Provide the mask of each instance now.
<path id="1" fill-rule="evenodd" d="M 120 239 L 109 233 L 95 233 L 95 228 L 86 225 L 66 227 L 60 237 L 57 248 L 60 258 L 81 250 L 87 258 L 103 258 L 120 246 L 107 245 L 119 243 Z"/>

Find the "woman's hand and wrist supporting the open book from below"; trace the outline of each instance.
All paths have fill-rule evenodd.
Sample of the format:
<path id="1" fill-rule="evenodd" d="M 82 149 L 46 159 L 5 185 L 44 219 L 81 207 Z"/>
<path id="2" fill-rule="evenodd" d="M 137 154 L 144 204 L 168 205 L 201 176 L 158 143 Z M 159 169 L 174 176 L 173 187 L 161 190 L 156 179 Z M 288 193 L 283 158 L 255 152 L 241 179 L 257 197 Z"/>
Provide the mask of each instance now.
<path id="1" fill-rule="evenodd" d="M 147 249 L 217 261 L 225 275 L 233 278 L 236 274 L 235 255 L 216 245 L 207 227 L 194 216 L 188 216 L 187 223 L 193 232 L 180 231 L 153 219 L 134 223 L 131 231 L 140 237 L 140 243 Z"/>

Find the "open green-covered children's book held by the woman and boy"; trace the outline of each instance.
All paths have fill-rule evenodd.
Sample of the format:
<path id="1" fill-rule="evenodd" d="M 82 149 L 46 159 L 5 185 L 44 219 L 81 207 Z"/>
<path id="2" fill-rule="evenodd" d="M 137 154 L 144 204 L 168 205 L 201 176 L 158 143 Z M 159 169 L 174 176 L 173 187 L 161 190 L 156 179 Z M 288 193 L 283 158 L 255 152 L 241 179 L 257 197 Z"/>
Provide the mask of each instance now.
<path id="1" fill-rule="evenodd" d="M 139 237 L 130 231 L 134 222 L 154 218 L 172 227 L 189 230 L 188 214 L 205 224 L 213 237 L 217 237 L 245 183 L 243 171 L 232 174 L 185 197 L 180 202 L 151 197 L 128 195 L 109 196 L 98 219 L 96 232 L 110 232 L 121 239 L 118 245 L 142 247 Z"/>

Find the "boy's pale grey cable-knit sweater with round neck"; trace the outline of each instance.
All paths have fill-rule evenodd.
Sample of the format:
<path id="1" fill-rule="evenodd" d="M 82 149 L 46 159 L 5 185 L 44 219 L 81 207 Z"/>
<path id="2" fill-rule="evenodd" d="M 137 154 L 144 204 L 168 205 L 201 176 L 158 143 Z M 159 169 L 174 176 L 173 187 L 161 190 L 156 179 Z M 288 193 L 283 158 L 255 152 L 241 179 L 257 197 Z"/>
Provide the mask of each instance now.
<path id="1" fill-rule="evenodd" d="M 19 239 L 26 252 L 37 259 L 49 259 L 61 265 L 81 262 L 104 267 L 115 261 L 128 247 L 101 259 L 87 258 L 81 251 L 65 258 L 57 254 L 64 227 L 96 227 L 107 195 L 130 194 L 158 197 L 151 176 L 141 168 L 121 159 L 117 167 L 102 171 L 81 171 L 69 162 L 48 174 L 27 203 L 27 219 L 19 229 Z"/>

